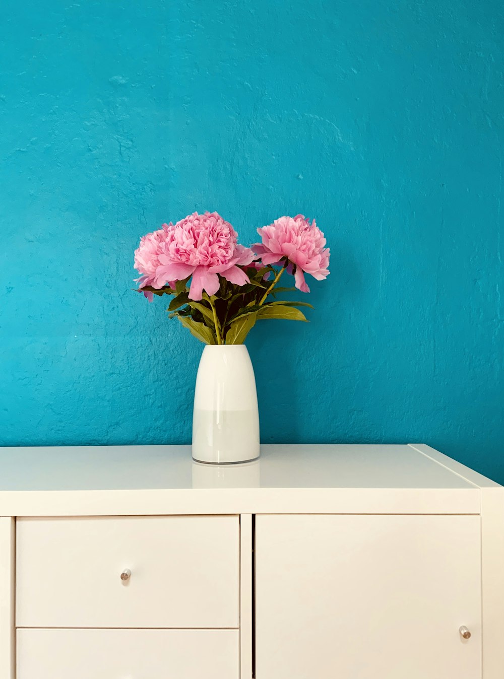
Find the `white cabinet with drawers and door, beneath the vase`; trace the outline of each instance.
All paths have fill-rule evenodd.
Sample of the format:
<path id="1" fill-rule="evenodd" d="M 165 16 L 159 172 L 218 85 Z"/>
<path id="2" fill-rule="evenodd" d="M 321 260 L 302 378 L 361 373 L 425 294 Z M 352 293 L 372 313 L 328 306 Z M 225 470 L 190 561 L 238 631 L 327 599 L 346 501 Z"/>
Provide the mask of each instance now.
<path id="1" fill-rule="evenodd" d="M 504 488 L 426 445 L 0 449 L 0 679 L 503 679 Z"/>

